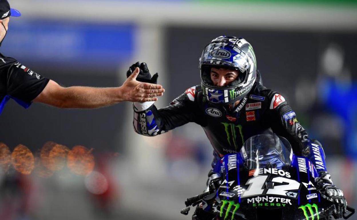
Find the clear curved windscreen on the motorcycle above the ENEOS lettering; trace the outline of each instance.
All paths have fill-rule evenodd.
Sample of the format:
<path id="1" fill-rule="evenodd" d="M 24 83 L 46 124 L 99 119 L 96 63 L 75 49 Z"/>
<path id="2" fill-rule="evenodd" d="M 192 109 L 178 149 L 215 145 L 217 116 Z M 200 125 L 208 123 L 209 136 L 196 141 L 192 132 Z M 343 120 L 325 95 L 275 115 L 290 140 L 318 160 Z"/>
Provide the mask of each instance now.
<path id="1" fill-rule="evenodd" d="M 248 170 L 260 168 L 286 169 L 292 160 L 291 144 L 276 134 L 255 135 L 241 149 Z"/>

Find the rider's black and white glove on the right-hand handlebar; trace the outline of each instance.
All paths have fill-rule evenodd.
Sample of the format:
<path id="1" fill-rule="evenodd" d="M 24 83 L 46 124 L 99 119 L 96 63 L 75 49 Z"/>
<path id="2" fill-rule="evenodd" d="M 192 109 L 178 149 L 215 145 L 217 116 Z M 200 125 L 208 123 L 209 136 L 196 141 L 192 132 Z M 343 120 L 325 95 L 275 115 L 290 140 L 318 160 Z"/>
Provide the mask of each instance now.
<path id="1" fill-rule="evenodd" d="M 342 218 L 347 209 L 347 201 L 342 190 L 333 185 L 331 176 L 327 172 L 320 172 L 320 177 L 316 177 L 315 181 L 321 196 L 335 204 L 333 217 L 335 219 Z"/>

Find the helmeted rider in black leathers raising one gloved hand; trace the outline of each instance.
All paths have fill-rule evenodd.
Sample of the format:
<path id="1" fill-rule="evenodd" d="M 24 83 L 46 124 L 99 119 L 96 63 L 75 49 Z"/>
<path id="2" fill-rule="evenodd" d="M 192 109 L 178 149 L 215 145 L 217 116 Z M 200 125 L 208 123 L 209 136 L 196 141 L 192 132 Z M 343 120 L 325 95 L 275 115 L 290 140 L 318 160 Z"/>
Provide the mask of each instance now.
<path id="1" fill-rule="evenodd" d="M 127 77 L 140 67 L 137 80 L 156 83 L 146 63 L 133 64 Z M 188 88 L 169 106 L 157 109 L 154 102 L 134 102 L 135 132 L 155 136 L 188 122 L 202 126 L 213 150 L 212 168 L 227 153 L 240 151 L 253 135 L 273 132 L 285 137 L 296 155 L 307 157 L 315 165 L 317 188 L 335 203 L 335 218 L 346 211 L 346 199 L 328 174 L 321 144 L 310 139 L 297 121 L 285 98 L 262 85 L 252 46 L 243 38 L 220 36 L 204 48 L 200 58 L 201 85 Z M 207 186 L 218 186 L 220 176 L 208 174 Z M 205 219 L 197 207 L 192 219 Z"/>

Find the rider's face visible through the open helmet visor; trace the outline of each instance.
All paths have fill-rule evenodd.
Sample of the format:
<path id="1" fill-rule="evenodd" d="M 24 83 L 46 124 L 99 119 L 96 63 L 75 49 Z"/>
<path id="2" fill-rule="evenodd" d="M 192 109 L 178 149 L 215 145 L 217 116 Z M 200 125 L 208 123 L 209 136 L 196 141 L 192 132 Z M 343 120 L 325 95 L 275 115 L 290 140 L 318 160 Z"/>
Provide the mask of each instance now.
<path id="1" fill-rule="evenodd" d="M 215 86 L 228 86 L 233 80 L 238 77 L 237 70 L 229 70 L 225 68 L 211 68 L 211 80 Z"/>

